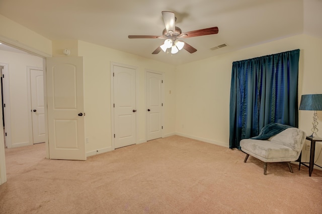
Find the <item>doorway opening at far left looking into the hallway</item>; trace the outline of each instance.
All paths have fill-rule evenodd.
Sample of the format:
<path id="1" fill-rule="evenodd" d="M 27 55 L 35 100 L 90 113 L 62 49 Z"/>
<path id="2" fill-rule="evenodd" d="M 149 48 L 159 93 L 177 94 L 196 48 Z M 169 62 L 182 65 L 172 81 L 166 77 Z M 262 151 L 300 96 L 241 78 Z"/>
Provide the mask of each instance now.
<path id="1" fill-rule="evenodd" d="M 34 143 L 32 113 L 34 112 L 31 111 L 30 73 L 33 69 L 42 72 L 43 59 L 10 46 L 3 49 L 3 46 L 4 44 L 0 45 L 0 89 L 5 146 L 14 148 L 32 145 Z M 10 47 L 9 50 L 8 47 Z M 40 76 L 38 80 L 40 79 L 42 83 L 38 81 L 36 84 L 42 86 L 43 77 Z M 41 95 L 43 100 L 43 92 L 37 92 L 37 94 Z M 40 112 L 38 111 L 37 115 L 38 113 Z M 41 129 L 45 132 L 44 122 Z"/>

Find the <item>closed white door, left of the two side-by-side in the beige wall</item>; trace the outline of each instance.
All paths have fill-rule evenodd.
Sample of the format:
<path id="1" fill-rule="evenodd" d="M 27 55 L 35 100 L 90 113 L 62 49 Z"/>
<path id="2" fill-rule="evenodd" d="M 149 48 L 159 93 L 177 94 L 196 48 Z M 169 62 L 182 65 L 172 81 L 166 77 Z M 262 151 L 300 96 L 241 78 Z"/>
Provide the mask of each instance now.
<path id="1" fill-rule="evenodd" d="M 115 148 L 136 143 L 135 69 L 113 66 Z"/>

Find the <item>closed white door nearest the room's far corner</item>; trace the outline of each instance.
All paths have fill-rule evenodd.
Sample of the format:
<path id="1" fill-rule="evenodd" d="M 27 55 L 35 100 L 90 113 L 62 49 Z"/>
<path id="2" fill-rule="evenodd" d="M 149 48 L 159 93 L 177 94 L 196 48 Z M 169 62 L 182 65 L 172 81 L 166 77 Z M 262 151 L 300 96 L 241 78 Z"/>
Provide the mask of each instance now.
<path id="1" fill-rule="evenodd" d="M 146 73 L 146 135 L 147 140 L 162 137 L 163 75 Z"/>

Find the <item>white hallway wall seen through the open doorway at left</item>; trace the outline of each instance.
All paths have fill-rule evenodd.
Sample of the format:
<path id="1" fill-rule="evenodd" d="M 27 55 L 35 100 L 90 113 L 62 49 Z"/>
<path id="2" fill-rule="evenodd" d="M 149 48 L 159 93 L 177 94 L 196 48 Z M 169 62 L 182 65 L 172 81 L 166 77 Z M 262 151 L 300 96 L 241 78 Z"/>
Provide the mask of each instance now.
<path id="1" fill-rule="evenodd" d="M 30 142 L 30 97 L 28 94 L 28 67 L 37 67 L 42 69 L 43 59 L 40 57 L 19 54 L 14 52 L 0 51 L 0 63 L 7 64 L 9 68 L 9 77 L 5 77 L 6 83 L 9 80 L 10 85 L 10 106 L 11 114 L 11 145 L 8 147 L 19 147 L 31 145 Z M 8 124 L 6 124 L 8 126 Z M 9 127 L 8 127 L 9 128 Z M 32 130 L 32 129 L 31 129 Z"/>

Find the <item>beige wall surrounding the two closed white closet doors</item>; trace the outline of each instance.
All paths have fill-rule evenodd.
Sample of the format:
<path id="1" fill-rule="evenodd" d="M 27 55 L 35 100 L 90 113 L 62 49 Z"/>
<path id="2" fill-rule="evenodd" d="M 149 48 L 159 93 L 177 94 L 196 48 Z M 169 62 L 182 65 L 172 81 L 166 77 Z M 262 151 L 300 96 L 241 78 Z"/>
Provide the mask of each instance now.
<path id="1" fill-rule="evenodd" d="M 102 46 L 78 41 L 78 56 L 84 57 L 85 135 L 88 155 L 109 151 L 111 133 L 111 63 L 137 67 L 137 142 L 146 141 L 145 71 L 165 73 L 164 134 L 175 132 L 175 67 Z M 169 91 L 172 91 L 170 94 Z"/>

